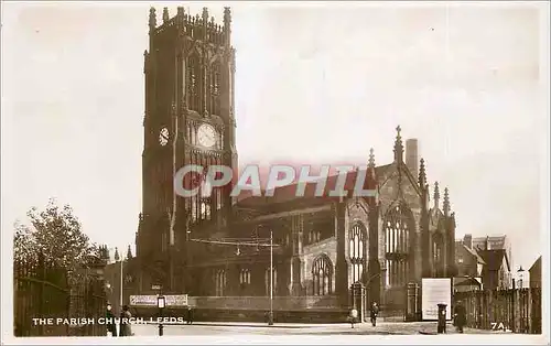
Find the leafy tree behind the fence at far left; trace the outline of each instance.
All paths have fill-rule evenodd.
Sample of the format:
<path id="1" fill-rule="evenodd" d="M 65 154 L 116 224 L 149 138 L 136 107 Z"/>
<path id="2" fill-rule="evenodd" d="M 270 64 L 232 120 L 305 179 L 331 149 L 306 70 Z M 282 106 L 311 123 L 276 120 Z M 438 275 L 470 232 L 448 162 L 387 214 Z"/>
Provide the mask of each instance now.
<path id="1" fill-rule="evenodd" d="M 71 206 L 58 207 L 54 199 L 50 199 L 44 210 L 33 207 L 26 215 L 31 225 L 15 224 L 15 262 L 36 261 L 41 253 L 45 264 L 65 269 L 71 278 L 90 264 L 91 258 L 101 255 L 100 248 L 90 244 L 88 236 L 82 231 Z"/>

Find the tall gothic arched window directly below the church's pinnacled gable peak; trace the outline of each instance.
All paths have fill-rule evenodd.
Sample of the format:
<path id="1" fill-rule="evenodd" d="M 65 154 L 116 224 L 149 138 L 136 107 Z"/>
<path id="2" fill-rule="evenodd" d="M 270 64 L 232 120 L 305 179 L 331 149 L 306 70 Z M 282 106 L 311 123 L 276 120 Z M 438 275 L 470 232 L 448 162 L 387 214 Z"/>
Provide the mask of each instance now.
<path id="1" fill-rule="evenodd" d="M 411 213 L 404 205 L 389 209 L 385 217 L 386 284 L 401 286 L 408 282 L 410 261 Z"/>

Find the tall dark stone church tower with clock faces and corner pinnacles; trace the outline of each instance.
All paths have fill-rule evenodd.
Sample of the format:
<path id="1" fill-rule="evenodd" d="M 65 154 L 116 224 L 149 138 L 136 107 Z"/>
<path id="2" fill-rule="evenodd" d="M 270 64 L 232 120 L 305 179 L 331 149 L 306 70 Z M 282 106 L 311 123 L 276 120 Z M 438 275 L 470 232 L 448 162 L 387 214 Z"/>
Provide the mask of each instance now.
<path id="1" fill-rule="evenodd" d="M 169 291 L 183 290 L 182 280 L 168 278 L 184 271 L 186 235 L 199 225 L 219 226 L 230 213 L 228 192 L 176 198 L 173 182 L 186 164 L 237 167 L 230 36 L 229 8 L 222 25 L 206 8 L 193 17 L 179 7 L 173 18 L 164 8 L 161 24 L 155 9 L 150 10 L 143 68 L 142 213 L 136 242 L 144 272 L 140 280 L 162 282 Z M 199 179 L 192 176 L 183 184 L 194 187 Z M 149 286 L 145 281 L 142 289 Z"/>

